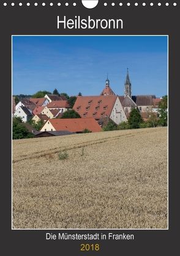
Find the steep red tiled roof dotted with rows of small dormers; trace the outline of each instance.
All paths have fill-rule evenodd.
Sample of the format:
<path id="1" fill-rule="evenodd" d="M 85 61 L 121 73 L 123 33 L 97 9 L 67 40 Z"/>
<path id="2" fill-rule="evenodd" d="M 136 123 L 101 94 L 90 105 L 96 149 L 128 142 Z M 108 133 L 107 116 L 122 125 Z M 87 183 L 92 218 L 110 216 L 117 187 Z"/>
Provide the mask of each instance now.
<path id="1" fill-rule="evenodd" d="M 75 105 L 73 106 L 73 110 L 77 111 L 77 113 L 80 114 L 81 118 L 94 117 L 96 119 L 100 119 L 102 118 L 102 115 L 101 115 L 102 112 L 104 112 L 104 116 L 110 117 L 116 98 L 117 98 L 116 95 L 78 96 L 75 102 Z M 88 110 L 87 110 L 87 106 L 89 106 Z M 105 110 L 104 110 L 104 106 L 106 106 Z M 83 116 L 84 113 L 86 113 L 86 116 Z M 96 113 L 96 116 L 93 116 L 93 114 L 95 113 Z"/>

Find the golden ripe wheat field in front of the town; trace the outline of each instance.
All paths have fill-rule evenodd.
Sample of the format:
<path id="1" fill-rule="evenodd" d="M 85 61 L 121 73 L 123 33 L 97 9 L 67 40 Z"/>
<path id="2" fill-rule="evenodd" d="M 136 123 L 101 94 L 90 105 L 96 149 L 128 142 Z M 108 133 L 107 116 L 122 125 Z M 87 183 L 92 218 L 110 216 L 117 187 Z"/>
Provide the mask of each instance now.
<path id="1" fill-rule="evenodd" d="M 13 228 L 167 228 L 166 127 L 13 140 L 12 162 Z"/>

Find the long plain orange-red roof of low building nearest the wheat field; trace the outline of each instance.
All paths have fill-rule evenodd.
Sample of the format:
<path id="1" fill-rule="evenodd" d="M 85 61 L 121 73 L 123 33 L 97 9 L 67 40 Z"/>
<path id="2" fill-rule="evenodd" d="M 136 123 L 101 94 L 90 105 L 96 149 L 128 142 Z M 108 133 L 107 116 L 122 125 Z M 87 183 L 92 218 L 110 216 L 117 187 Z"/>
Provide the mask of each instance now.
<path id="1" fill-rule="evenodd" d="M 49 119 L 55 130 L 69 130 L 70 132 L 82 132 L 84 129 L 91 132 L 100 132 L 102 128 L 94 118 L 69 118 L 69 119 Z"/>

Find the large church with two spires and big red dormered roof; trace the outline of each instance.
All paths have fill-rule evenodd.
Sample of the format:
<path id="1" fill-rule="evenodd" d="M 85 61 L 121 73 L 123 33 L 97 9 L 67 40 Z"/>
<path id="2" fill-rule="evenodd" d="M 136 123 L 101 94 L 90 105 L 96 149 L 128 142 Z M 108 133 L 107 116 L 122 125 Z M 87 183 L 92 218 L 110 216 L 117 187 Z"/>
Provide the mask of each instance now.
<path id="1" fill-rule="evenodd" d="M 116 95 L 110 87 L 110 80 L 106 79 L 105 88 L 99 96 L 78 96 L 73 110 L 81 118 L 94 118 L 100 125 L 105 125 L 109 119 L 116 124 L 127 121 L 132 108 L 138 108 L 144 120 L 149 118 L 151 111 L 157 110 L 158 103 L 155 95 L 132 96 L 132 85 L 127 70 L 124 84 L 124 95 Z"/>

